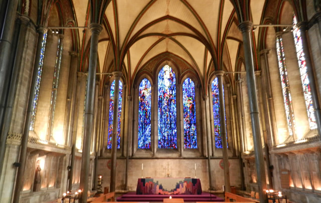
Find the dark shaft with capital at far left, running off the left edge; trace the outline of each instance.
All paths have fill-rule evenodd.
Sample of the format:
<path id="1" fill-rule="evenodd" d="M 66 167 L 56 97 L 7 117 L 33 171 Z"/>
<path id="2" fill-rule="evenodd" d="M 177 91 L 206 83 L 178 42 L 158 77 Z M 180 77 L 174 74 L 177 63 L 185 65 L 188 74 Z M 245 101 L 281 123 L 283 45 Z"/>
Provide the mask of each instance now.
<path id="1" fill-rule="evenodd" d="M 20 16 L 20 19 L 17 20 L 16 23 L 16 29 L 18 28 L 19 34 L 18 38 L 16 41 L 18 42 L 15 47 L 15 52 L 13 53 L 13 71 L 11 75 L 11 80 L 10 80 L 10 89 L 8 92 L 8 99 L 7 99 L 7 104 L 4 114 L 4 124 L 2 128 L 0 128 L 2 131 L 0 131 L 0 174 L 2 174 L 2 169 L 4 165 L 4 158 L 5 158 L 5 151 L 6 151 L 6 140 L 7 136 L 10 130 L 10 123 L 12 119 L 12 113 L 13 113 L 13 105 L 15 102 L 15 97 L 16 97 L 16 90 L 18 86 L 18 77 L 19 77 L 19 72 L 22 68 L 21 62 L 22 62 L 22 55 L 23 51 L 25 48 L 25 39 L 26 39 L 26 32 L 27 32 L 27 27 L 29 24 L 30 18 L 27 16 Z"/>

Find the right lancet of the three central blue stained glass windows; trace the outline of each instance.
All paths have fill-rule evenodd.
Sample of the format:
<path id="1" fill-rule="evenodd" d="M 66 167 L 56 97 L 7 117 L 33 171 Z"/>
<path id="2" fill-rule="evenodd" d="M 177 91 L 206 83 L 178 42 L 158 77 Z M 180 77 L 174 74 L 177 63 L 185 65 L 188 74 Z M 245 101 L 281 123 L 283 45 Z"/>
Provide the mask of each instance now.
<path id="1" fill-rule="evenodd" d="M 197 148 L 195 85 L 191 78 L 183 82 L 183 111 L 185 148 Z"/>

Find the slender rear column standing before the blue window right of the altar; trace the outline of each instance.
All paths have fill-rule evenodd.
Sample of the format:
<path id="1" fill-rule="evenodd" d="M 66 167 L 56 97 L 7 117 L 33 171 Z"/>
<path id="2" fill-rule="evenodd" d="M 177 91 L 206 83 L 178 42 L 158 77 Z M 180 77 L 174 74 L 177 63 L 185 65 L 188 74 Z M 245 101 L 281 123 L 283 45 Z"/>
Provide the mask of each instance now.
<path id="1" fill-rule="evenodd" d="M 224 90 L 223 90 L 223 70 L 215 71 L 215 75 L 218 78 L 219 87 L 219 101 L 220 101 L 220 128 L 221 128 L 221 140 L 223 145 L 223 162 L 224 162 L 224 183 L 225 191 L 231 192 L 230 184 L 230 170 L 229 170 L 229 157 L 227 152 L 227 133 L 226 133 L 226 121 L 225 121 L 225 104 L 224 104 Z"/>

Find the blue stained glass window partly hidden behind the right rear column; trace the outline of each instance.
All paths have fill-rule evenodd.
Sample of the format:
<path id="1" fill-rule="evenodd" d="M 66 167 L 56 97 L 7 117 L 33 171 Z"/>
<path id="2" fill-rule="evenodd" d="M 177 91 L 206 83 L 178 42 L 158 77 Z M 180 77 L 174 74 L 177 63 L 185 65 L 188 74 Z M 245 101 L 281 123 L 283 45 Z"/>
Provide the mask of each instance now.
<path id="1" fill-rule="evenodd" d="M 224 97 L 224 91 L 223 91 L 223 97 Z M 221 118 L 220 118 L 219 82 L 217 77 L 212 81 L 212 99 L 213 99 L 215 146 L 216 148 L 223 148 L 222 137 L 221 137 L 221 123 L 220 123 Z M 225 110 L 225 107 L 224 107 L 224 110 Z M 225 121 L 226 121 L 226 117 L 225 117 Z M 226 140 L 227 140 L 227 135 L 226 135 Z"/>

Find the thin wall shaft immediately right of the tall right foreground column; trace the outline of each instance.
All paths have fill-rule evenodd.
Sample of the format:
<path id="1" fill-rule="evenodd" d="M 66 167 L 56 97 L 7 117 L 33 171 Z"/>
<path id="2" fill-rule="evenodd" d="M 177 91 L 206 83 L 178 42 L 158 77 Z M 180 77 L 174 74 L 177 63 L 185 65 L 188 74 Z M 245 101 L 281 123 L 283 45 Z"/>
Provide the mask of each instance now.
<path id="1" fill-rule="evenodd" d="M 260 100 L 260 109 L 261 109 L 261 122 L 262 122 L 262 131 L 263 131 L 263 142 L 264 142 L 264 152 L 265 152 L 265 163 L 266 163 L 266 171 L 267 171 L 267 177 L 269 180 L 269 187 L 273 189 L 273 182 L 272 182 L 272 174 L 271 170 L 269 169 L 270 166 L 270 154 L 269 154 L 269 146 L 267 142 L 267 130 L 266 130 L 266 120 L 265 120 L 265 111 L 264 111 L 264 96 L 263 96 L 263 90 L 261 87 L 262 81 L 261 81 L 261 71 L 255 71 L 256 81 L 257 81 L 257 89 L 259 92 L 259 100 Z"/>

